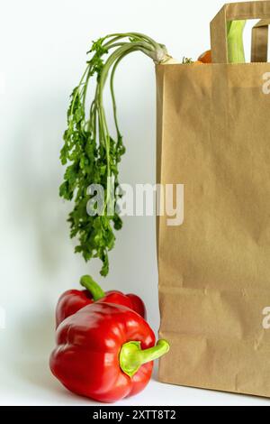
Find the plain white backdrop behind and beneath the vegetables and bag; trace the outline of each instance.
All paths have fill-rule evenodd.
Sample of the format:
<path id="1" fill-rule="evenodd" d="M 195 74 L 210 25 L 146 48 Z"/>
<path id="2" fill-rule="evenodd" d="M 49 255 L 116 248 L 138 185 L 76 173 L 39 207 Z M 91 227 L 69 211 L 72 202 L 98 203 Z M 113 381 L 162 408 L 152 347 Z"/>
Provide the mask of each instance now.
<path id="1" fill-rule="evenodd" d="M 68 96 L 85 69 L 92 40 L 110 32 L 145 32 L 179 60 L 209 48 L 209 22 L 223 1 L 9 0 L 0 1 L 0 330 L 1 404 L 85 404 L 50 375 L 54 308 L 58 296 L 92 273 L 104 289 L 135 291 L 158 328 L 155 218 L 125 219 L 102 281 L 100 263 L 73 253 L 66 223 L 71 205 L 58 198 L 58 161 Z M 250 45 L 247 26 L 247 49 Z M 155 74 L 136 53 L 116 78 L 127 153 L 121 181 L 155 182 Z M 108 100 L 109 97 L 106 97 Z M 89 364 L 91 366 L 91 364 Z M 251 405 L 247 396 L 173 387 L 154 380 L 121 404 Z"/>

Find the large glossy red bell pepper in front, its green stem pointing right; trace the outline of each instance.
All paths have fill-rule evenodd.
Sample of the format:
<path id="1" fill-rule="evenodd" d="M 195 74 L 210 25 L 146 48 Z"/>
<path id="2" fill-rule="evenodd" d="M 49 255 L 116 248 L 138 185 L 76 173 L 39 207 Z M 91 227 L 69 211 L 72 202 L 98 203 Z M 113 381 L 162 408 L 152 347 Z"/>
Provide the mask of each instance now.
<path id="1" fill-rule="evenodd" d="M 114 402 L 141 392 L 150 380 L 153 360 L 169 350 L 155 346 L 148 323 L 126 307 L 97 302 L 65 319 L 50 356 L 51 372 L 71 392 Z"/>

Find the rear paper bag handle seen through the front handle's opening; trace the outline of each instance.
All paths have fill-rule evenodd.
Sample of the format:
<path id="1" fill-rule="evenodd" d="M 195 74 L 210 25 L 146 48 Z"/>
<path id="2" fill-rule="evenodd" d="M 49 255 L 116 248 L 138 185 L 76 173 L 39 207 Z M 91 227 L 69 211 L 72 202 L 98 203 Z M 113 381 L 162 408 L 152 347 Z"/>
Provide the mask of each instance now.
<path id="1" fill-rule="evenodd" d="M 268 25 L 270 19 L 262 19 L 252 28 L 251 61 L 266 62 L 268 58 Z"/>

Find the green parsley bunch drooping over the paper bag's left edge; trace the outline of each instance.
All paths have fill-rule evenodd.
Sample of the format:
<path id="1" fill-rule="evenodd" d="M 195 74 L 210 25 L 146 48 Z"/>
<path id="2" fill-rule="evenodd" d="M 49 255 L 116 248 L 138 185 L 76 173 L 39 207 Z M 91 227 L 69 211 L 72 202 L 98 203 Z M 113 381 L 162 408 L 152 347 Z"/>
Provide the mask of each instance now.
<path id="1" fill-rule="evenodd" d="M 71 94 L 67 110 L 67 130 L 60 159 L 67 165 L 64 182 L 59 189 L 60 197 L 74 201 L 74 208 L 67 221 L 71 238 L 77 237 L 76 253 L 82 253 L 85 261 L 99 258 L 101 274 L 109 272 L 108 252 L 115 242 L 113 230 L 120 230 L 121 217 L 110 211 L 113 198 L 108 179 L 114 180 L 114 190 L 119 186 L 118 166 L 125 152 L 117 120 L 113 78 L 121 60 L 133 51 L 142 51 L 156 63 L 168 60 L 166 48 L 146 35 L 130 32 L 107 35 L 93 42 L 87 66 L 78 86 Z M 89 110 L 85 110 L 87 89 L 95 78 L 95 93 Z M 103 89 L 110 78 L 112 108 L 116 137 L 110 134 L 103 107 Z M 88 188 L 100 184 L 104 189 L 105 207 L 101 216 L 90 216 L 86 207 L 92 198 Z M 92 215 L 92 214 L 91 214 Z"/>

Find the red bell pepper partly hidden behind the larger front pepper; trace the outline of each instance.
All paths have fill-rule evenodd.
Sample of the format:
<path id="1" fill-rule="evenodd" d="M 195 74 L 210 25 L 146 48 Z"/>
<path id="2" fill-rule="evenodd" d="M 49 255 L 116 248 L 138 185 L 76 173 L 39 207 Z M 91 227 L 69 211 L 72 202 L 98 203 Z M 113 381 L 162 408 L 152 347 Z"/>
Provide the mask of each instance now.
<path id="1" fill-rule="evenodd" d="M 56 309 L 57 327 L 64 319 L 75 314 L 77 310 L 96 301 L 126 306 L 135 310 L 142 318 L 147 318 L 145 304 L 139 296 L 135 294 L 125 295 L 116 290 L 104 292 L 89 275 L 82 277 L 80 283 L 86 290 L 67 290 L 58 300 Z"/>

